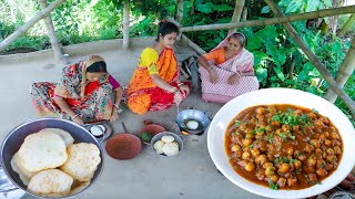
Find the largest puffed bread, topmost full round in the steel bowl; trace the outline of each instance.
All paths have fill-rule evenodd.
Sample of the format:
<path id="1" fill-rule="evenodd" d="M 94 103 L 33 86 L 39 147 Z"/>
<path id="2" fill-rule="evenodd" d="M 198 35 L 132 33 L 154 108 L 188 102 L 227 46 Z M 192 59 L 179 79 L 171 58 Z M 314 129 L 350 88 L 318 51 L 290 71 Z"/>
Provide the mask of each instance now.
<path id="1" fill-rule="evenodd" d="M 31 171 L 55 168 L 67 161 L 64 140 L 54 133 L 36 133 L 27 136 L 19 149 L 23 167 Z"/>

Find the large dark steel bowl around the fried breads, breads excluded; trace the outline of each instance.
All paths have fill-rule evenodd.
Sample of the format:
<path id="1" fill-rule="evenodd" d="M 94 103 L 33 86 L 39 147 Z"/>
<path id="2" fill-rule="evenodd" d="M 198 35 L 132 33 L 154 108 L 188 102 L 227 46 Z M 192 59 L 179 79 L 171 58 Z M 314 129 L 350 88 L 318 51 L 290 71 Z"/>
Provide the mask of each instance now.
<path id="1" fill-rule="evenodd" d="M 102 172 L 102 168 L 103 168 L 102 148 L 101 148 L 100 143 L 95 139 L 95 137 L 92 134 L 90 134 L 84 127 L 82 127 L 75 123 L 60 119 L 60 118 L 38 118 L 38 119 L 33 119 L 33 121 L 28 121 L 28 122 L 19 125 L 18 127 L 16 127 L 14 129 L 12 129 L 7 135 L 7 137 L 2 142 L 2 146 L 1 146 L 1 166 L 2 166 L 7 177 L 11 180 L 11 182 L 14 186 L 24 190 L 29 195 L 32 195 L 34 197 L 40 197 L 40 198 L 47 198 L 47 197 L 37 196 L 32 192 L 27 191 L 27 186 L 22 184 L 19 175 L 12 170 L 11 164 L 10 164 L 12 156 L 19 150 L 24 138 L 28 135 L 38 133 L 39 130 L 41 130 L 43 128 L 60 128 L 60 129 L 67 130 L 74 138 L 74 143 L 92 143 L 92 144 L 97 145 L 98 148 L 100 149 L 101 163 L 99 164 L 98 169 L 95 170 L 95 174 L 94 174 L 93 178 L 91 179 L 90 185 L 88 187 L 85 187 L 84 189 L 82 189 L 81 191 L 75 192 L 75 193 L 68 196 L 68 197 L 77 196 L 77 195 L 83 192 L 92 184 L 94 184 L 98 180 L 99 176 Z M 68 197 L 58 197 L 58 198 L 68 198 Z"/>

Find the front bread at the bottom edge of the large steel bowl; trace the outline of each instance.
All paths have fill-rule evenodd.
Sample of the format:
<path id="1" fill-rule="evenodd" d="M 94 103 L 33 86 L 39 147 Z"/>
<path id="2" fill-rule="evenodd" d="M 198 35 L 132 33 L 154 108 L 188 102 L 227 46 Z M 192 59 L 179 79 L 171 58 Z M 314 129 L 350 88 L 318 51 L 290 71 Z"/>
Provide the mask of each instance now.
<path id="1" fill-rule="evenodd" d="M 28 191 L 43 197 L 68 196 L 73 178 L 59 169 L 47 169 L 31 178 Z"/>

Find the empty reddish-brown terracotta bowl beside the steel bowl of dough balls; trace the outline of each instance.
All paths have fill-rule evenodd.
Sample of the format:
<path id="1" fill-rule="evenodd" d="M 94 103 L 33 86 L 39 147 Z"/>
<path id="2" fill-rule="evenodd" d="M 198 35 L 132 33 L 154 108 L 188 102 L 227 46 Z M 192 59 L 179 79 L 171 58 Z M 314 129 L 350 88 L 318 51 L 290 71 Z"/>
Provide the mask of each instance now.
<path id="1" fill-rule="evenodd" d="M 109 156 L 114 159 L 132 159 L 142 149 L 141 139 L 132 134 L 118 134 L 111 137 L 105 145 Z"/>

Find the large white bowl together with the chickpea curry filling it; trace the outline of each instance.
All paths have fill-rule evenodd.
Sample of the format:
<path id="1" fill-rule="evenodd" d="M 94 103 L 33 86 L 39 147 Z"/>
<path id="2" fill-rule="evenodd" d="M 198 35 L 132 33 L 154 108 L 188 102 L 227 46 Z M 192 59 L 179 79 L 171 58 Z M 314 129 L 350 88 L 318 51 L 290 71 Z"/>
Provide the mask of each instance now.
<path id="1" fill-rule="evenodd" d="M 354 140 L 342 111 L 292 88 L 235 97 L 207 132 L 209 154 L 221 174 L 268 198 L 307 198 L 338 185 L 355 166 Z"/>

